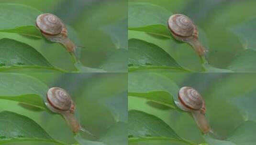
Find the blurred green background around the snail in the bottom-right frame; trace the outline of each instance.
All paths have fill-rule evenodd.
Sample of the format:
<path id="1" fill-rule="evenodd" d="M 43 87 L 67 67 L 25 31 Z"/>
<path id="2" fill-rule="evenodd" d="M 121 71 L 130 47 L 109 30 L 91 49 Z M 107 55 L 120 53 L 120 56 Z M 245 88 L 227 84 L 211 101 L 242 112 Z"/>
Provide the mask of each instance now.
<path id="1" fill-rule="evenodd" d="M 179 87 L 190 86 L 200 92 L 206 103 L 206 117 L 211 128 L 223 139 L 232 135 L 235 128 L 247 120 L 256 120 L 256 73 L 156 73 L 167 76 Z M 133 73 L 146 78 L 144 73 Z M 156 75 L 156 76 L 157 76 Z M 156 79 L 156 78 L 154 78 Z M 144 84 L 141 86 L 150 86 Z M 161 83 L 156 83 L 161 88 Z M 165 84 L 162 84 L 165 86 Z M 171 88 L 169 90 L 172 90 Z M 176 93 L 174 93 L 176 94 Z M 177 97 L 177 96 L 175 96 Z M 128 109 L 144 111 L 165 121 L 182 138 L 195 143 L 205 143 L 192 116 L 186 112 L 129 96 Z M 132 145 L 170 145 L 170 142 L 138 142 Z"/>

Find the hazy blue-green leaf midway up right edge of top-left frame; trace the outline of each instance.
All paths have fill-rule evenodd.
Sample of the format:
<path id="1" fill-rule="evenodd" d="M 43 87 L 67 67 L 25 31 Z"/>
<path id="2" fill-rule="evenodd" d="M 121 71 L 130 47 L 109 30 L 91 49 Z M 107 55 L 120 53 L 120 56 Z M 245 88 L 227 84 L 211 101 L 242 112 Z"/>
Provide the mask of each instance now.
<path id="1" fill-rule="evenodd" d="M 122 19 L 102 28 L 110 36 L 116 48 L 127 49 L 127 19 Z"/>

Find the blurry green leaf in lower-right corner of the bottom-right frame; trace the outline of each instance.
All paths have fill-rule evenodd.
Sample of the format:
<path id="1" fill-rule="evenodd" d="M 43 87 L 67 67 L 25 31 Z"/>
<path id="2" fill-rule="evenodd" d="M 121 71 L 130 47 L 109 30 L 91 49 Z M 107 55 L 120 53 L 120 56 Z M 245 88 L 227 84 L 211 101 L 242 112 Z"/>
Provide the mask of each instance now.
<path id="1" fill-rule="evenodd" d="M 204 135 L 204 138 L 209 145 L 255 145 L 255 132 L 256 123 L 253 121 L 247 121 L 238 126 L 226 141 L 213 139 L 208 135 Z"/>

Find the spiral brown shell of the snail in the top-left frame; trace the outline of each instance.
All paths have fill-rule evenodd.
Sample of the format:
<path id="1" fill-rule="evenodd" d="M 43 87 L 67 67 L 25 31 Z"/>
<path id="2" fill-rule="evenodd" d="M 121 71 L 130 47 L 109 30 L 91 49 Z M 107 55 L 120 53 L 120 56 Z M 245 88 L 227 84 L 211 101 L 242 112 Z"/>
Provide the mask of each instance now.
<path id="1" fill-rule="evenodd" d="M 47 35 L 58 35 L 64 24 L 56 15 L 45 13 L 36 18 L 36 26 Z"/>

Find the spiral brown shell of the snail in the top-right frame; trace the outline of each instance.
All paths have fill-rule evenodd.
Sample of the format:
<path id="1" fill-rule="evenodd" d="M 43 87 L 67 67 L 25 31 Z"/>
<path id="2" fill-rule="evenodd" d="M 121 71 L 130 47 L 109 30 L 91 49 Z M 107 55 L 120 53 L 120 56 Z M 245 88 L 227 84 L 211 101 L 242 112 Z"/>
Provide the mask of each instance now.
<path id="1" fill-rule="evenodd" d="M 196 27 L 191 19 L 185 15 L 175 14 L 168 20 L 170 31 L 180 37 L 192 36 Z"/>

